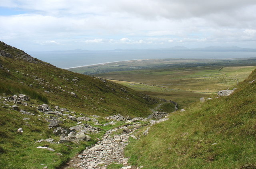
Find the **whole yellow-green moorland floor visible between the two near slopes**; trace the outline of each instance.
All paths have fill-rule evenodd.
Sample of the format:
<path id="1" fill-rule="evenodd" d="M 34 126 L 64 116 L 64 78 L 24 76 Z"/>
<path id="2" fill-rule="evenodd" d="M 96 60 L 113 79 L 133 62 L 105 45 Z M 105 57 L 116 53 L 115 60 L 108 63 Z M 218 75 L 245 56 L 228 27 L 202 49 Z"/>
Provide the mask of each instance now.
<path id="1" fill-rule="evenodd" d="M 209 66 L 142 69 L 97 74 L 150 96 L 178 102 L 180 108 L 201 97 L 232 89 L 256 66 Z"/>

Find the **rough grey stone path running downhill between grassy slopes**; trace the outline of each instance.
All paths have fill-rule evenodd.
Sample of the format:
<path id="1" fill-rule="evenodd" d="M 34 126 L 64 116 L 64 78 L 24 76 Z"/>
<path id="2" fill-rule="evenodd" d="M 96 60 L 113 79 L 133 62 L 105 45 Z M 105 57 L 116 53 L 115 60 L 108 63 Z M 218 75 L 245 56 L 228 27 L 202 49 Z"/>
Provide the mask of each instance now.
<path id="1" fill-rule="evenodd" d="M 106 169 L 110 163 L 127 165 L 128 159 L 124 157 L 124 148 L 128 145 L 128 138 L 140 124 L 130 125 L 108 130 L 102 141 L 83 151 L 72 159 L 63 169 Z M 122 134 L 113 135 L 112 132 L 122 130 Z M 134 137 L 134 136 L 133 136 Z M 132 167 L 127 167 L 132 168 Z"/>

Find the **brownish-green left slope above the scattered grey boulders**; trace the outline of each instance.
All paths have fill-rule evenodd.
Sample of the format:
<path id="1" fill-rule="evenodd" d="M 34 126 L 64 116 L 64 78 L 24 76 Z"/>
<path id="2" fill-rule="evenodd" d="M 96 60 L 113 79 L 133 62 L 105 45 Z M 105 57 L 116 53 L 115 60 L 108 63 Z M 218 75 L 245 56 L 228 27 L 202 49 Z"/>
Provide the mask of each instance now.
<path id="1" fill-rule="evenodd" d="M 0 56 L 0 93 L 23 91 L 31 95 L 34 92 L 50 106 L 58 105 L 89 115 L 146 116 L 150 114 L 150 106 L 156 103 L 122 85 L 59 69 L 3 42 L 0 42 L 0 51 L 12 57 Z"/>

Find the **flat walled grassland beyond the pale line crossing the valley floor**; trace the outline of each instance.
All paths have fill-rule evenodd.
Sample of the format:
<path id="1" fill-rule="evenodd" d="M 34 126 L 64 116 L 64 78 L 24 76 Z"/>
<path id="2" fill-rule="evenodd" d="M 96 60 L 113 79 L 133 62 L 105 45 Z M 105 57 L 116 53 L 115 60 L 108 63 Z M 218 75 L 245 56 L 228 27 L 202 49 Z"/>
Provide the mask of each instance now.
<path id="1" fill-rule="evenodd" d="M 96 76 L 172 89 L 217 92 L 236 86 L 236 79 L 238 81 L 246 79 L 250 74 L 249 72 L 254 70 L 256 66 L 225 66 L 223 69 L 221 68 L 220 66 L 179 67 L 172 69 L 120 71 L 98 74 Z"/>

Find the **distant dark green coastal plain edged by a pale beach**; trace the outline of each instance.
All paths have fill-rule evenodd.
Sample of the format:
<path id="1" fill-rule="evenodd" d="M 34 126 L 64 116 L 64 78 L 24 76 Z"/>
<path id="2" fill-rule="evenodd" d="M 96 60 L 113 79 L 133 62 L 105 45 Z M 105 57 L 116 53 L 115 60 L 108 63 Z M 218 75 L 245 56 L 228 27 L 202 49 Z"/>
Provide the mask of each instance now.
<path id="1" fill-rule="evenodd" d="M 95 75 L 114 71 L 132 71 L 142 69 L 174 69 L 198 66 L 256 65 L 256 58 L 243 59 L 137 59 L 117 61 L 97 65 L 69 68 L 67 70 L 85 75 Z"/>

